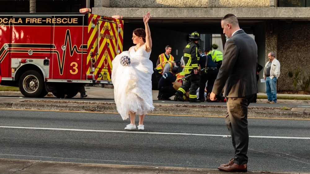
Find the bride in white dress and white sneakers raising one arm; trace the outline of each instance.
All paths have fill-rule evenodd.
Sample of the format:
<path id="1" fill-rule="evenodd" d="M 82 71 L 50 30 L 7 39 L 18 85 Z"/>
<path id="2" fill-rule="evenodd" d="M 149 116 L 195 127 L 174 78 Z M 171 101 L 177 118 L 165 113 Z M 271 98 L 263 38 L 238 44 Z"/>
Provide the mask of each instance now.
<path id="1" fill-rule="evenodd" d="M 150 13 L 143 15 L 143 28 L 133 31 L 132 46 L 128 51 L 117 55 L 112 61 L 112 82 L 114 85 L 114 100 L 117 111 L 122 119 L 130 116 L 127 130 L 136 129 L 135 115 L 139 115 L 139 130 L 144 130 L 144 116 L 148 111 L 153 111 L 152 74 L 153 63 L 149 60 L 152 48 L 152 39 L 148 20 Z M 130 64 L 121 65 L 122 57 L 130 58 Z"/>

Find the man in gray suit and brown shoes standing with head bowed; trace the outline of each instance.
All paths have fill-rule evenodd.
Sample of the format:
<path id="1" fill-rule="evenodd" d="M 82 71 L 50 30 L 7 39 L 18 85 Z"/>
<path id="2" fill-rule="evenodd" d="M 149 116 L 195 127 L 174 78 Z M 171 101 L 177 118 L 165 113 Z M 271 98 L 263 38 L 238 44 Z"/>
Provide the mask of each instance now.
<path id="1" fill-rule="evenodd" d="M 235 156 L 227 164 L 221 164 L 219 170 L 226 172 L 246 172 L 249 144 L 248 105 L 255 93 L 258 93 L 256 81 L 257 45 L 255 40 L 239 27 L 238 19 L 227 14 L 221 20 L 226 41 L 223 64 L 215 80 L 210 100 L 216 100 L 225 86 L 227 100 L 225 122 L 232 137 Z"/>

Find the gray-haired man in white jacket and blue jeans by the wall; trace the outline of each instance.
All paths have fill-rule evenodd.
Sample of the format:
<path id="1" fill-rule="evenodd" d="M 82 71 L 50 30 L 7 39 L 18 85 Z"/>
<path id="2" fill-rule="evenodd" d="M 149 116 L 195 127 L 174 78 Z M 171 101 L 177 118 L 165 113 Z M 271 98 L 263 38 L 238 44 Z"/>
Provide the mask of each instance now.
<path id="1" fill-rule="evenodd" d="M 275 58 L 276 54 L 268 53 L 269 61 L 265 65 L 264 79 L 266 80 L 267 103 L 277 103 L 277 79 L 280 76 L 280 62 Z"/>

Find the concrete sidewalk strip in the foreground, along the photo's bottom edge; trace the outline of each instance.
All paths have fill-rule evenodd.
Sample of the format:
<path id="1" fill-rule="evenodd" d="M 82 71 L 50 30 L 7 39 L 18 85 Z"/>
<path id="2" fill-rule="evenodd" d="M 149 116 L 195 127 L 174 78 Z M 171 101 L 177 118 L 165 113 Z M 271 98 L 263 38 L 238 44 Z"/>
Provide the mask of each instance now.
<path id="1" fill-rule="evenodd" d="M 0 159 L 1 173 L 20 173 L 20 174 L 224 174 L 218 169 L 208 168 L 172 168 L 172 167 L 148 167 L 148 166 L 124 166 L 108 164 L 88 164 L 88 163 L 60 163 L 51 161 L 33 161 L 33 160 L 11 160 Z M 262 173 L 290 173 L 307 174 L 300 172 L 268 172 L 248 169 L 253 174 Z M 239 172 L 230 172 L 236 174 Z M 245 172 L 242 172 L 245 173 Z M 308 173 L 309 174 L 309 173 Z"/>

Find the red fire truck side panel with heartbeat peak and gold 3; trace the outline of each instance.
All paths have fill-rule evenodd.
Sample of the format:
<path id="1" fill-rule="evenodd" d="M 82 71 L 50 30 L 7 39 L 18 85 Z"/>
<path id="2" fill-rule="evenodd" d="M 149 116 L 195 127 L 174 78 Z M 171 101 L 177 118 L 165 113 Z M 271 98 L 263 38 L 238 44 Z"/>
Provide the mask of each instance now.
<path id="1" fill-rule="evenodd" d="M 83 56 L 83 16 L 55 15 L 52 79 L 80 80 Z"/>

